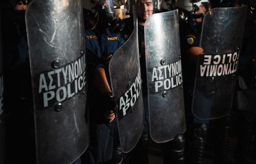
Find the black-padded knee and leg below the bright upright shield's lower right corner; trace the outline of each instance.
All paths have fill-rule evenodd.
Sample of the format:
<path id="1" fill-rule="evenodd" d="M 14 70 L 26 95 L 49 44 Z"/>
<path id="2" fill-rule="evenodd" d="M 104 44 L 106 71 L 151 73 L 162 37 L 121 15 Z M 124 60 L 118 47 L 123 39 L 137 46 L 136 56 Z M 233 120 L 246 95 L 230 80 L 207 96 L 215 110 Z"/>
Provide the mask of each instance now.
<path id="1" fill-rule="evenodd" d="M 165 164 L 184 164 L 185 137 L 180 134 L 165 144 L 163 159 Z"/>

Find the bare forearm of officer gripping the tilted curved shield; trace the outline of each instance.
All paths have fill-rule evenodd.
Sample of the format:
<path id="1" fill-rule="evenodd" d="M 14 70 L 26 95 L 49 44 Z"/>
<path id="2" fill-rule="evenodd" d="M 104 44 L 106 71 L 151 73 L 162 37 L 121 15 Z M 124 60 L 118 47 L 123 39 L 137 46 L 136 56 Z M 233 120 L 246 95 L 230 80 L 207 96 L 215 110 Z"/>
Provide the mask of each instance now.
<path id="1" fill-rule="evenodd" d="M 111 92 L 108 80 L 106 78 L 105 69 L 103 67 L 98 67 L 95 70 L 95 73 L 93 75 L 93 82 L 102 94 Z"/>

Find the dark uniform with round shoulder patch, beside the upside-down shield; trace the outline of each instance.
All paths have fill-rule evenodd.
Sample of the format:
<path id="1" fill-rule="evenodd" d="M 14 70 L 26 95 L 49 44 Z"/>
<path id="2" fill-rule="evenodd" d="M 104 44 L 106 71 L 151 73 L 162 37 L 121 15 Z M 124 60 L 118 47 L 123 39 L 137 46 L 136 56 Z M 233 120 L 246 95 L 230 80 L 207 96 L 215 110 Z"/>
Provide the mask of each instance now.
<path id="1" fill-rule="evenodd" d="M 197 27 L 192 28 L 187 23 L 183 23 L 180 26 L 182 78 L 185 110 L 187 112 L 187 125 L 209 122 L 207 120 L 196 119 L 191 112 L 196 77 L 196 63 L 193 63 L 191 58 L 188 56 L 187 51 L 189 48 L 200 46 L 201 26 L 202 24 L 198 24 Z M 207 99 L 204 97 L 204 95 L 200 94 L 200 92 L 196 90 L 193 108 L 203 108 L 203 111 L 207 111 L 205 114 L 210 115 L 210 99 Z"/>

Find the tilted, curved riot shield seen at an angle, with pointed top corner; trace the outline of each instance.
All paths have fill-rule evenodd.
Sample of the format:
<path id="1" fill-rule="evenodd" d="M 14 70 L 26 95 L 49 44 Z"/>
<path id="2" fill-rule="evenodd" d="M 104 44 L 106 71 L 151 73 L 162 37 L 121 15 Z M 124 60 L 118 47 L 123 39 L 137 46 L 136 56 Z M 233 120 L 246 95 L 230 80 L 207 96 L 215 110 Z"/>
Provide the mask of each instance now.
<path id="1" fill-rule="evenodd" d="M 131 151 L 144 128 L 144 107 L 137 21 L 130 38 L 112 56 L 109 75 L 117 98 L 117 124 L 122 151 Z"/>

